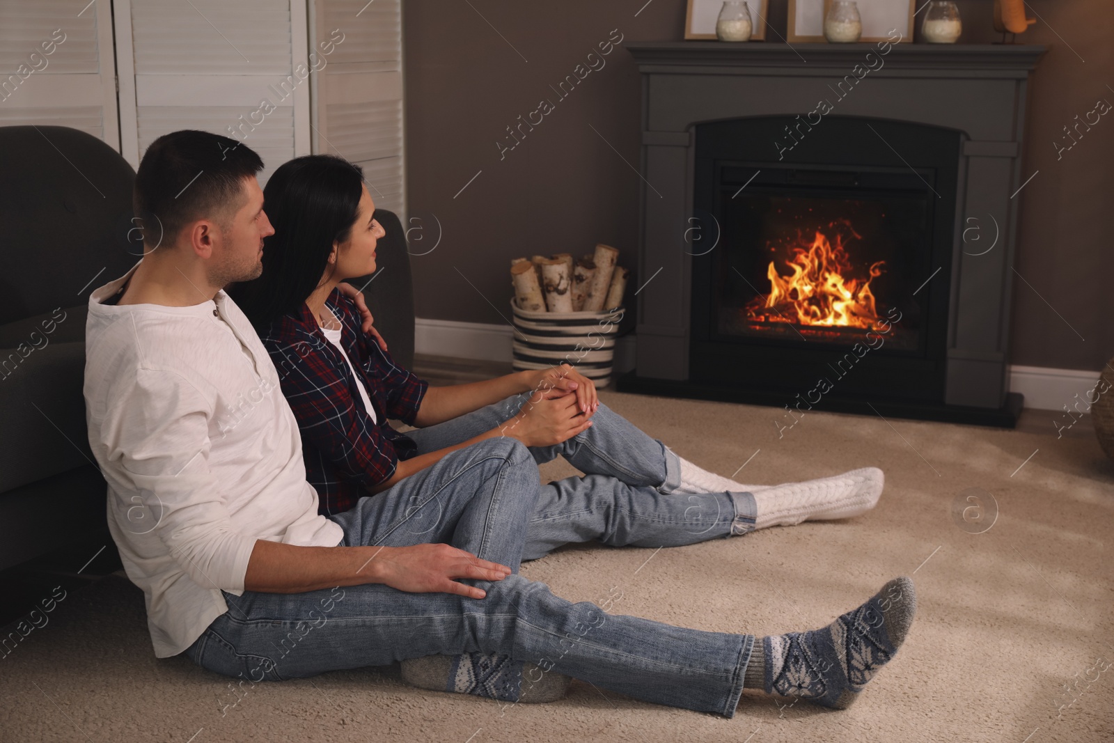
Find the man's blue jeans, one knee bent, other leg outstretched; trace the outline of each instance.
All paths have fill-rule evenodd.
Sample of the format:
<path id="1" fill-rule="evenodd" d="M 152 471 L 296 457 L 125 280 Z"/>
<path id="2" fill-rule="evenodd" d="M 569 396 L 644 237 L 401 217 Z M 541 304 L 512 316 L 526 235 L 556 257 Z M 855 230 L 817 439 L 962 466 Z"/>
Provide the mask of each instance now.
<path id="1" fill-rule="evenodd" d="M 522 525 L 536 516 L 541 491 L 531 454 L 514 439 L 486 440 L 329 517 L 344 529 L 341 546 L 448 542 L 511 567 L 502 580 L 471 581 L 486 598 L 380 584 L 225 593 L 228 612 L 188 657 L 254 683 L 424 655 L 499 653 L 647 702 L 733 716 L 753 635 L 610 615 L 517 575 L 529 539 Z M 530 681 L 537 678 L 525 678 L 524 688 Z"/>

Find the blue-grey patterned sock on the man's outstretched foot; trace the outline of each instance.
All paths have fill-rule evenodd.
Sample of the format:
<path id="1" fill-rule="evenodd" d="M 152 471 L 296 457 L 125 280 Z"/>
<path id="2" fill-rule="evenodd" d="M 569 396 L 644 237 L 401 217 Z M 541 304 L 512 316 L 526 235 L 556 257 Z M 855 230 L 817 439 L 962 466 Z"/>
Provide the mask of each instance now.
<path id="1" fill-rule="evenodd" d="M 743 687 L 846 710 L 898 652 L 916 610 L 912 580 L 902 576 L 827 627 L 755 639 Z"/>

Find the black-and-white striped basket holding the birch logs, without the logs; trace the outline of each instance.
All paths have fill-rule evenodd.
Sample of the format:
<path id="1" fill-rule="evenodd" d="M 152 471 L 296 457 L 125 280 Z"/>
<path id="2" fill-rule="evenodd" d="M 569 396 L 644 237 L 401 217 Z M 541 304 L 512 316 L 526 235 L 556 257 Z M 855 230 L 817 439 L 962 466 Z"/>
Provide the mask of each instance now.
<path id="1" fill-rule="evenodd" d="M 607 387 L 612 381 L 615 335 L 623 307 L 602 312 L 527 312 L 511 299 L 516 371 L 548 369 L 567 361 L 582 374 Z"/>

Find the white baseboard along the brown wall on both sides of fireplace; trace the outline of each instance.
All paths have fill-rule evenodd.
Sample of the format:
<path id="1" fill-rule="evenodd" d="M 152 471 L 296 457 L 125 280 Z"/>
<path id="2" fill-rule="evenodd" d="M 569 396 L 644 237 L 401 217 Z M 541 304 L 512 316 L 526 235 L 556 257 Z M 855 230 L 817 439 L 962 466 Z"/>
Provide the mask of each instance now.
<path id="1" fill-rule="evenodd" d="M 481 359 L 485 361 L 511 360 L 510 325 L 429 320 L 418 317 L 414 323 L 414 350 L 439 356 Z M 634 368 L 634 334 L 624 335 L 615 343 L 615 372 L 624 373 Z M 1095 387 L 1098 372 L 1051 366 L 1009 368 L 1009 391 L 1025 395 L 1025 407 L 1037 410 L 1061 410 L 1071 407 L 1075 395 L 1085 399 Z"/>

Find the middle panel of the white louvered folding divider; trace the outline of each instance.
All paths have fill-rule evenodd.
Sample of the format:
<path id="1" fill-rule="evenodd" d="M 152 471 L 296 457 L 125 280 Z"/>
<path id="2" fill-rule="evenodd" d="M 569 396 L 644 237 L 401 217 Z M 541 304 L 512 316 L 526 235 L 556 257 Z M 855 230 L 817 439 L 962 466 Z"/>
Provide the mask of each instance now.
<path id="1" fill-rule="evenodd" d="M 263 158 L 260 184 L 310 153 L 305 0 L 116 0 L 120 141 L 223 134 Z"/>

